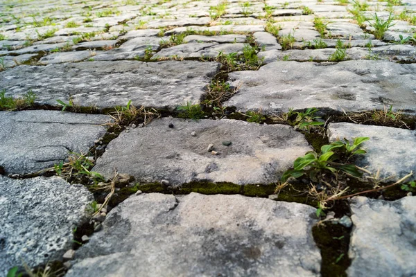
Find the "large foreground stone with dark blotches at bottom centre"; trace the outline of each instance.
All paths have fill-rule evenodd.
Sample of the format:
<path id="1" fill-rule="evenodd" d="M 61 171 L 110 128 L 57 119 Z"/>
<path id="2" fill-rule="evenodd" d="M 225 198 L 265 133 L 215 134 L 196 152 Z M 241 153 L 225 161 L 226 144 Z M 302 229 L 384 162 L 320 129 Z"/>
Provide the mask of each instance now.
<path id="1" fill-rule="evenodd" d="M 67 277 L 320 276 L 314 213 L 242 195 L 133 196 L 78 249 Z"/>

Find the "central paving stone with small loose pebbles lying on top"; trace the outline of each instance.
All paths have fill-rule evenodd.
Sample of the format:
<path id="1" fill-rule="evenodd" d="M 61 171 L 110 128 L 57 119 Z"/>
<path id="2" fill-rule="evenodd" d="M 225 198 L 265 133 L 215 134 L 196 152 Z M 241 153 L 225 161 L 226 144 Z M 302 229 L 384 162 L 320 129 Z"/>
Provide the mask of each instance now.
<path id="1" fill-rule="evenodd" d="M 207 151 L 209 144 L 218 155 Z M 173 185 L 205 180 L 270 184 L 309 150 L 304 137 L 284 125 L 161 118 L 110 142 L 94 171 L 111 176 L 117 168 L 137 181 L 165 179 Z"/>

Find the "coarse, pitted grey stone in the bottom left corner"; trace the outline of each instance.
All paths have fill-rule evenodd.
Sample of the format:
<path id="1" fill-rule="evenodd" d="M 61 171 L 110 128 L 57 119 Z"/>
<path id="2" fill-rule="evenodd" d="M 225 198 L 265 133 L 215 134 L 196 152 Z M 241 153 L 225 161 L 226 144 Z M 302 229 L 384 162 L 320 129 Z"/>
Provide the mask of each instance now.
<path id="1" fill-rule="evenodd" d="M 87 188 L 59 177 L 15 180 L 0 175 L 0 274 L 60 260 L 72 230 L 87 220 L 94 200 Z"/>

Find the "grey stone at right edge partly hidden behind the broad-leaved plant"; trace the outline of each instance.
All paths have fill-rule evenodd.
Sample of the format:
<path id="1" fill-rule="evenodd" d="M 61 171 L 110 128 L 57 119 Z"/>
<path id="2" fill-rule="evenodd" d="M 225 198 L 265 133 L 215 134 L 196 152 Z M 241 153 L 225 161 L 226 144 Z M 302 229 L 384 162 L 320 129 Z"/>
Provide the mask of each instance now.
<path id="1" fill-rule="evenodd" d="M 368 136 L 370 141 L 363 143 L 367 154 L 356 163 L 361 167 L 366 166 L 374 175 L 380 170 L 380 178 L 394 176 L 392 179 L 398 180 L 410 171 L 416 172 L 416 131 L 353 123 L 330 123 L 328 132 L 329 141 Z M 413 175 L 413 179 L 416 179 L 416 175 Z"/>

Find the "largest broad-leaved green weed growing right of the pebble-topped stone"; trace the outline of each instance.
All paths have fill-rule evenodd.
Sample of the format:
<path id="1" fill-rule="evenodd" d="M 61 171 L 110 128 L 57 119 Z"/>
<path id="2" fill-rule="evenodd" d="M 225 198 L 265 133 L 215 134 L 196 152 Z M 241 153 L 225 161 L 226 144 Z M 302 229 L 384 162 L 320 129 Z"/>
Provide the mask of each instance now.
<path id="1" fill-rule="evenodd" d="M 318 182 L 323 175 L 338 172 L 344 172 L 353 177 L 361 177 L 362 173 L 354 164 L 339 163 L 338 161 L 343 155 L 351 157 L 354 154 L 365 154 L 365 150 L 358 148 L 358 146 L 367 140 L 366 137 L 356 138 L 351 145 L 345 139 L 345 141 L 322 145 L 320 154 L 315 151 L 306 152 L 304 157 L 295 160 L 293 169 L 284 172 L 281 181 L 286 182 L 289 178 L 297 179 L 306 175 L 311 181 Z"/>

